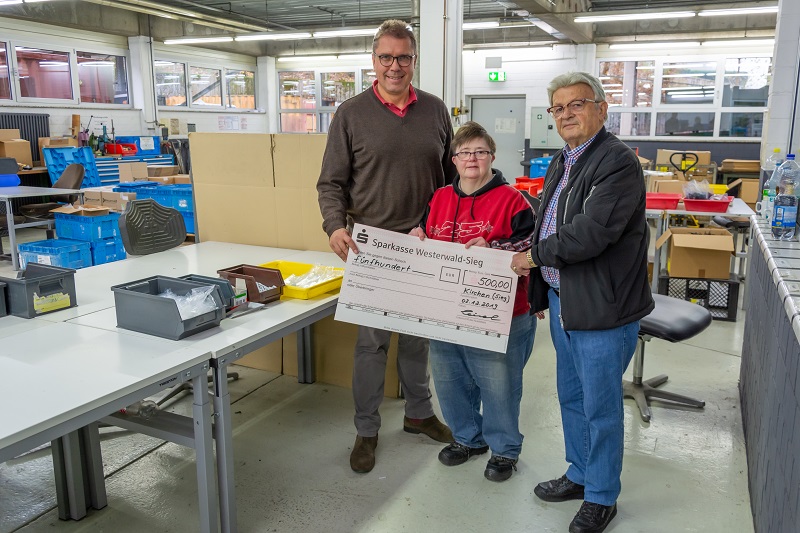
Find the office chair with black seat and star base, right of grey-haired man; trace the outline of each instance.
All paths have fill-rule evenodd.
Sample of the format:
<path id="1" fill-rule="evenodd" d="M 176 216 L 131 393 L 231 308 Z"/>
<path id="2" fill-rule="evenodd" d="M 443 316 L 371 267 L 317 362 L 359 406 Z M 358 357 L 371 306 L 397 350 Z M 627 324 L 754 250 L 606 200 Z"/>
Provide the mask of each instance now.
<path id="1" fill-rule="evenodd" d="M 706 404 L 702 400 L 658 389 L 657 387 L 669 379 L 666 374 L 642 380 L 645 342 L 650 339 L 682 342 L 691 339 L 711 325 L 711 313 L 705 307 L 662 294 L 654 294 L 653 300 L 656 302 L 655 308 L 639 321 L 639 339 L 633 356 L 633 380 L 622 380 L 624 396 L 636 401 L 639 413 L 645 422 L 649 422 L 652 417 L 648 405 L 650 398 L 697 408 L 702 408 Z"/>

